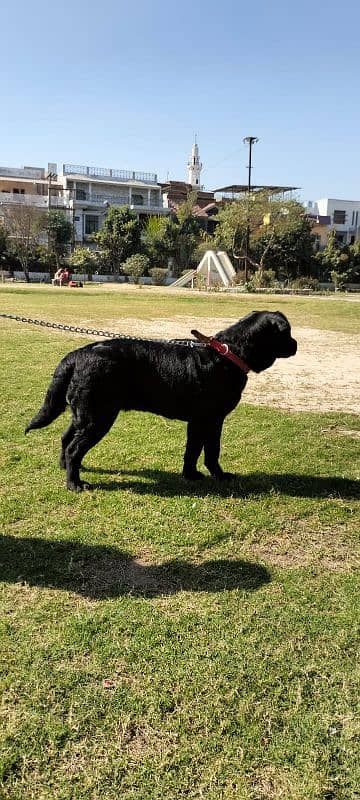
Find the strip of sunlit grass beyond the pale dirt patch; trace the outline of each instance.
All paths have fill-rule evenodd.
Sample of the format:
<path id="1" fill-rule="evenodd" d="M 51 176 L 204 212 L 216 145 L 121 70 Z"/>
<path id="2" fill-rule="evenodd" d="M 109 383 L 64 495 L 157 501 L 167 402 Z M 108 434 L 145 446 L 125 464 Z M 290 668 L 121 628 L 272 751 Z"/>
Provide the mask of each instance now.
<path id="1" fill-rule="evenodd" d="M 1 311 L 33 316 L 41 312 L 55 322 L 91 319 L 106 325 L 107 320 L 138 317 L 142 319 L 173 316 L 199 316 L 211 321 L 216 317 L 239 319 L 254 309 L 279 309 L 294 326 L 325 330 L 359 332 L 359 303 L 354 297 L 279 297 L 242 294 L 200 293 L 190 290 L 123 287 L 113 290 L 106 286 L 85 287 L 81 290 L 58 290 L 46 286 L 4 284 L 0 287 Z M 80 322 L 81 324 L 81 322 Z"/>

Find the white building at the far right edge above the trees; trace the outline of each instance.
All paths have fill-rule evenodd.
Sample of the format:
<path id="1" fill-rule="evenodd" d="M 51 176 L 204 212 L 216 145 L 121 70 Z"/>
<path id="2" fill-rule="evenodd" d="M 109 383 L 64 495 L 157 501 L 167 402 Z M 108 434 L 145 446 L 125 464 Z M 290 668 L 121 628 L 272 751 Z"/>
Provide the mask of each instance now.
<path id="1" fill-rule="evenodd" d="M 360 200 L 337 200 L 325 197 L 305 204 L 309 215 L 327 219 L 328 230 L 335 229 L 341 244 L 353 244 L 360 239 Z"/>

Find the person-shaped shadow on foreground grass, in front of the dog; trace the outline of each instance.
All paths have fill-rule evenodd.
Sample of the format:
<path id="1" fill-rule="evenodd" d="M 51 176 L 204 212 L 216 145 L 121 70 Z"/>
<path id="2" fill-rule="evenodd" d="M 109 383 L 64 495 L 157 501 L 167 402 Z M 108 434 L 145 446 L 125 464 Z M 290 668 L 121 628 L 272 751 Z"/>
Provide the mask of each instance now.
<path id="1" fill-rule="evenodd" d="M 2 536 L 0 580 L 63 589 L 100 600 L 120 595 L 172 595 L 184 590 L 253 591 L 271 577 L 265 567 L 248 561 L 149 564 L 115 547 Z"/>

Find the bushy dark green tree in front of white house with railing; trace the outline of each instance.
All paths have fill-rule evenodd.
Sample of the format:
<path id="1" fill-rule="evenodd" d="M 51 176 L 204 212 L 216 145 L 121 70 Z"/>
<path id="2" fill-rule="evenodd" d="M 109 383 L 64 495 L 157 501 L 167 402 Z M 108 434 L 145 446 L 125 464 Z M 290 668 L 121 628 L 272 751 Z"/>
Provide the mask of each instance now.
<path id="1" fill-rule="evenodd" d="M 102 251 L 104 265 L 110 272 L 120 272 L 121 264 L 140 250 L 140 225 L 129 206 L 111 206 L 104 225 L 94 234 Z"/>

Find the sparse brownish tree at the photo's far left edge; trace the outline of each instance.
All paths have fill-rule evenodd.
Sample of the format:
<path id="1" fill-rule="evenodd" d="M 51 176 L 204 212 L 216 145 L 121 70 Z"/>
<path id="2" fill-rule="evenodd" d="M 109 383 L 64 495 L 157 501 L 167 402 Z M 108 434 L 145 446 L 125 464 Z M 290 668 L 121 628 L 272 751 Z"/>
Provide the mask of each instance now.
<path id="1" fill-rule="evenodd" d="M 29 265 L 46 228 L 43 212 L 34 206 L 3 206 L 4 227 L 9 242 L 9 252 L 21 265 L 25 279 L 29 282 Z"/>

